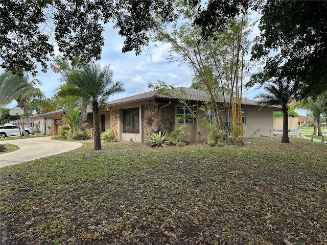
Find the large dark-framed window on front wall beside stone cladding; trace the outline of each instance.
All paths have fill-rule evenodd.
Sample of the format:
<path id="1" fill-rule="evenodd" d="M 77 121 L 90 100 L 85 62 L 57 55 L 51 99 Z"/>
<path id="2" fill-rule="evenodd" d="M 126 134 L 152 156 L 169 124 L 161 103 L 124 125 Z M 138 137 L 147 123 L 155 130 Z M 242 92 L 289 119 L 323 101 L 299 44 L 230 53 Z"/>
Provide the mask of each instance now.
<path id="1" fill-rule="evenodd" d="M 139 134 L 139 109 L 123 110 L 123 133 Z"/>

